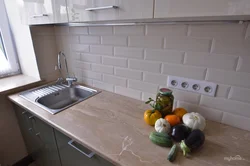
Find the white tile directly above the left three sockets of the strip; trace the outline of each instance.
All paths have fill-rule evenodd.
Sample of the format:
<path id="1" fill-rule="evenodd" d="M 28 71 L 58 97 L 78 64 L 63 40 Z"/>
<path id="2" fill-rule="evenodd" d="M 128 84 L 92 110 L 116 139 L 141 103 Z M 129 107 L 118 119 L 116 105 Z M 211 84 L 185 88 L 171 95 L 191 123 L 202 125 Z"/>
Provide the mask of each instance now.
<path id="1" fill-rule="evenodd" d="M 206 68 L 166 63 L 163 64 L 163 74 L 204 80 Z"/>

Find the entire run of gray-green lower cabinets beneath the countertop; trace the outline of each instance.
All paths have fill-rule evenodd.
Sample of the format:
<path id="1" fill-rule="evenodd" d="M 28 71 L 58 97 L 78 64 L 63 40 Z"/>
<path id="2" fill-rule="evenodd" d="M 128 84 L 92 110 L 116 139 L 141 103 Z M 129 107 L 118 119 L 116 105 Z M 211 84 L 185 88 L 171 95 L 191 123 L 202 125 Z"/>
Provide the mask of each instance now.
<path id="1" fill-rule="evenodd" d="M 17 105 L 14 109 L 27 151 L 37 166 L 113 166 L 25 109 Z"/>

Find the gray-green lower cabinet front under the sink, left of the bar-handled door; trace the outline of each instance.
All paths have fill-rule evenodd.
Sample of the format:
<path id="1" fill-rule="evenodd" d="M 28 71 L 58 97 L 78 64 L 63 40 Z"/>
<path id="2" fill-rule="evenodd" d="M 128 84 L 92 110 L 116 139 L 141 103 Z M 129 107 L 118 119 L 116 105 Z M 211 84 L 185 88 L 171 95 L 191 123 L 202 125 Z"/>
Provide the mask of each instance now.
<path id="1" fill-rule="evenodd" d="M 32 114 L 14 105 L 27 151 L 38 166 L 60 166 L 54 129 Z"/>

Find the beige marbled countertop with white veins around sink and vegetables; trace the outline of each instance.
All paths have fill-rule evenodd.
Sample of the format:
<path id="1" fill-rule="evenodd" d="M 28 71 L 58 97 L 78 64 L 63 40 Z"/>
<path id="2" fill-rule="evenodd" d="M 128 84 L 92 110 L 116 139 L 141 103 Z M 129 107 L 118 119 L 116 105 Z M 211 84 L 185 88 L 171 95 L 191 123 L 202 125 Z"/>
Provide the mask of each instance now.
<path id="1" fill-rule="evenodd" d="M 179 152 L 175 162 L 170 163 L 167 160 L 170 148 L 157 146 L 148 138 L 154 131 L 143 121 L 143 112 L 148 106 L 115 93 L 102 91 L 56 115 L 18 94 L 9 98 L 115 165 L 250 165 L 250 133 L 212 121 L 207 121 L 203 147 L 190 158 Z"/>

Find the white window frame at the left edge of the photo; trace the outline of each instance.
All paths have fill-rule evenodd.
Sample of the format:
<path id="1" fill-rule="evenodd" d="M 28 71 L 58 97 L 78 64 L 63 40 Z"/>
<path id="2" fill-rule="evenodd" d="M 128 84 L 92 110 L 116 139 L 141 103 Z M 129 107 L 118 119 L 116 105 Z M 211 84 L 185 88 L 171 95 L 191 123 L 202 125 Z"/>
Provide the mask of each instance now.
<path id="1" fill-rule="evenodd" d="M 5 8 L 4 0 L 0 0 L 0 33 L 2 37 L 2 44 L 5 56 L 11 65 L 11 70 L 9 73 L 0 74 L 0 79 L 3 77 L 8 77 L 12 75 L 17 75 L 21 73 L 20 65 L 16 53 L 15 43 L 12 37 L 11 28 L 9 25 L 9 20 Z"/>

